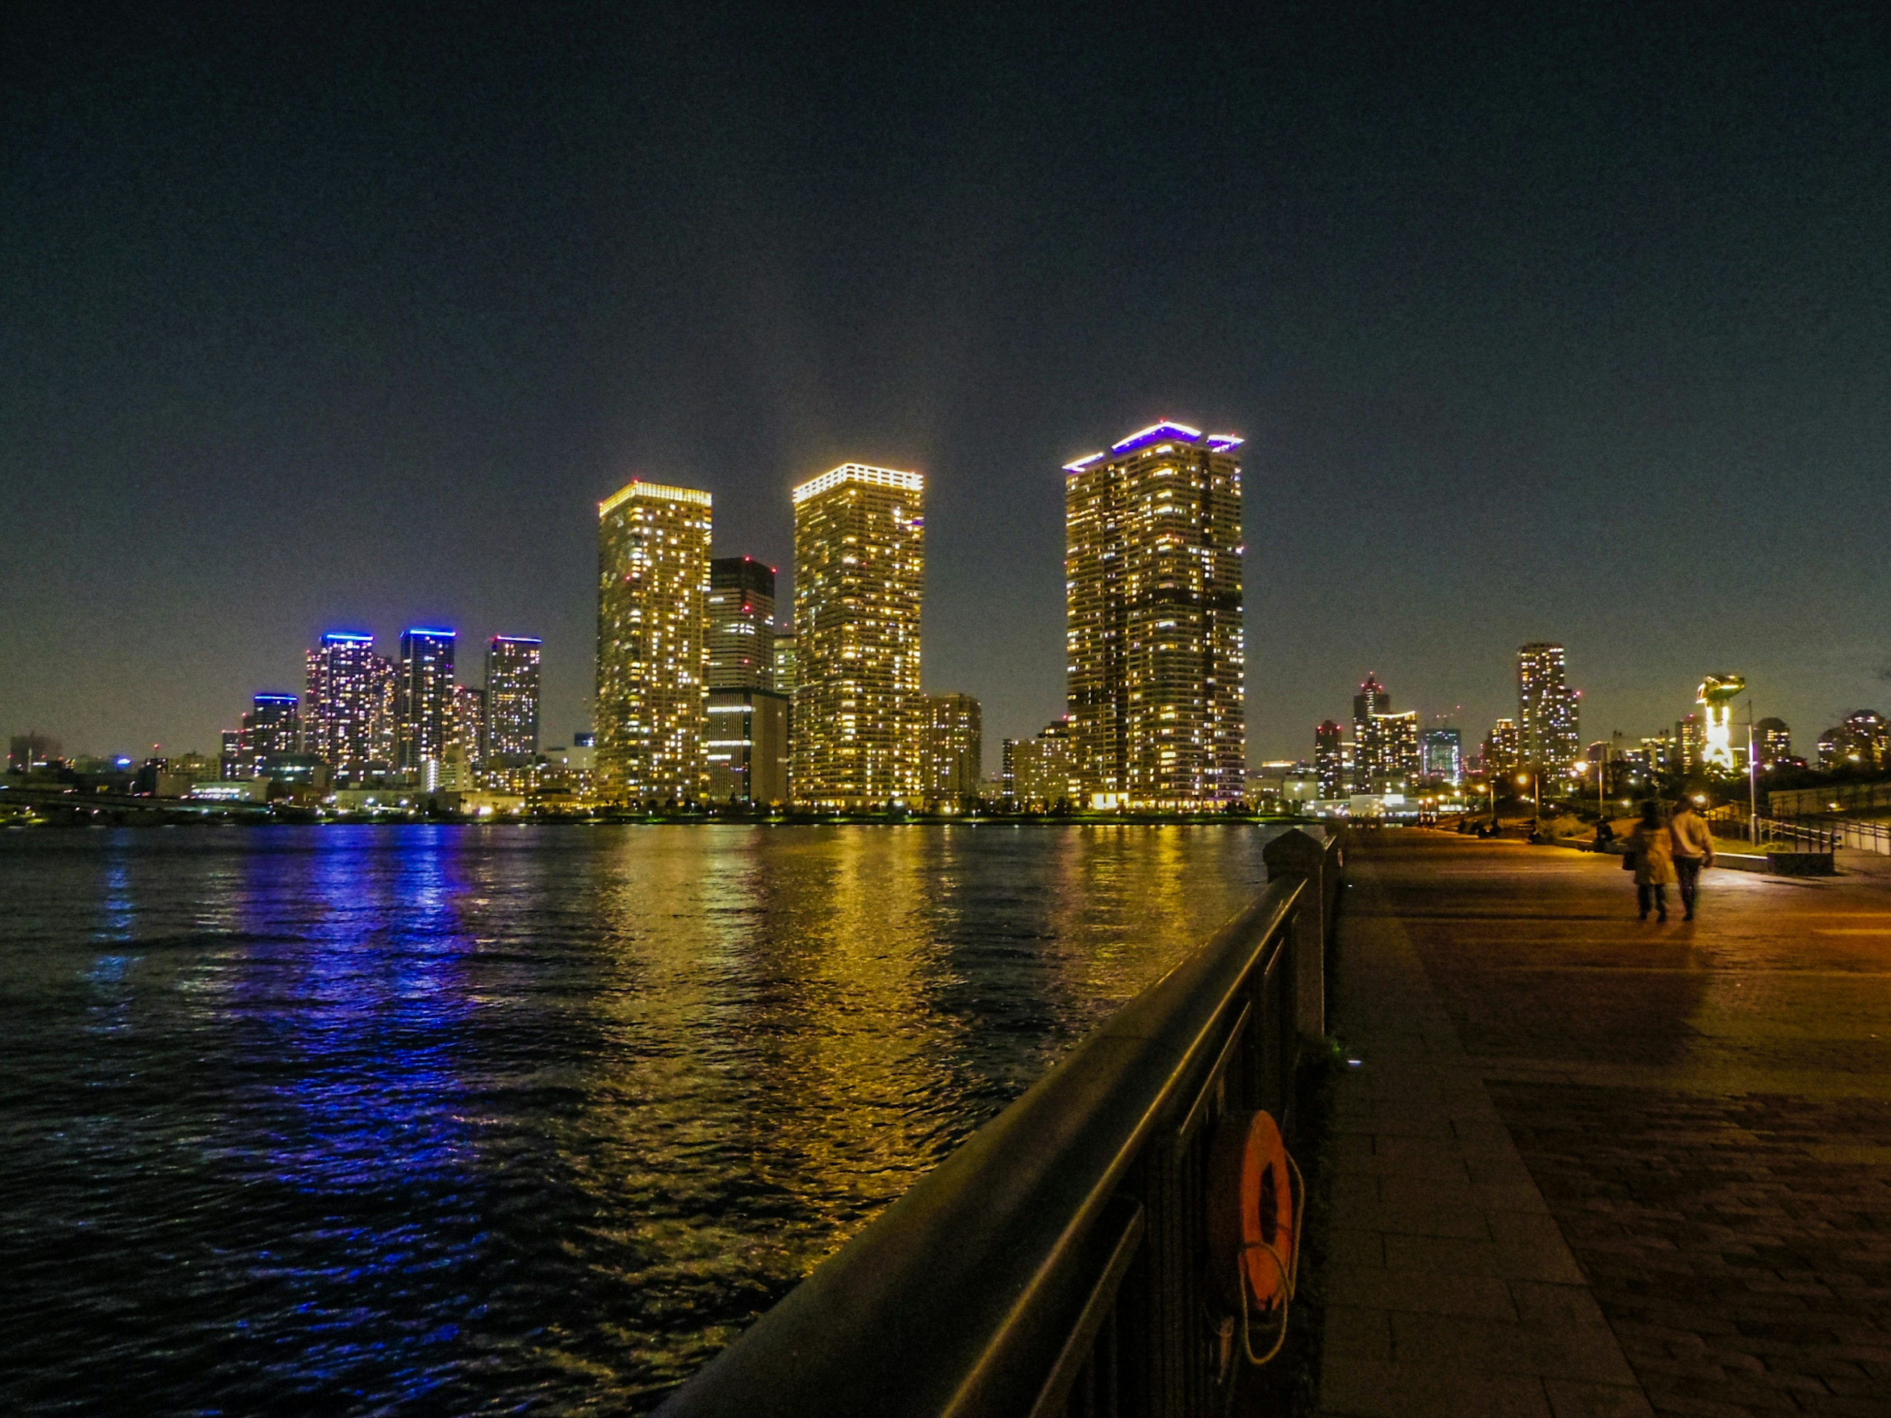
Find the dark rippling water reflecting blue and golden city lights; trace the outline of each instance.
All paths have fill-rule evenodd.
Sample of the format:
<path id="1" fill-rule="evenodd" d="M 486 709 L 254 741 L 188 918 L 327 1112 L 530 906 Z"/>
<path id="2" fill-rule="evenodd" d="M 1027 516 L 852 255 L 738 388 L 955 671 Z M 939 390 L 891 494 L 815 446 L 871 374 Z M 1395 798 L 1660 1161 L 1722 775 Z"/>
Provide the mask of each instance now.
<path id="1" fill-rule="evenodd" d="M 4 834 L 0 1409 L 649 1409 L 1267 836 Z"/>

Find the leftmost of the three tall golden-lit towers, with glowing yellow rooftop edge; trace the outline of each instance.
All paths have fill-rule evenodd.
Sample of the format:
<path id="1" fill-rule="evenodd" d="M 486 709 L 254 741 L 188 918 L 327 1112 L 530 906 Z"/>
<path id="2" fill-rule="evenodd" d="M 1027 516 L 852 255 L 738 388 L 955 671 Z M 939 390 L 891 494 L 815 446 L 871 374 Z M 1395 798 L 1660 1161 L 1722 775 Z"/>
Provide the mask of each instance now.
<path id="1" fill-rule="evenodd" d="M 707 787 L 709 493 L 632 482 L 598 503 L 598 792 Z"/>

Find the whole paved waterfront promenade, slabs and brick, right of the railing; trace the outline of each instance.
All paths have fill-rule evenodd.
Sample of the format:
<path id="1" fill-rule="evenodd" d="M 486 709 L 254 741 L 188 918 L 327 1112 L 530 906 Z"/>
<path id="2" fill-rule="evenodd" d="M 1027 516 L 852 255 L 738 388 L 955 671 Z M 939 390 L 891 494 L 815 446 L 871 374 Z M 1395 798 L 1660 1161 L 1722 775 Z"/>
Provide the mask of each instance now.
<path id="1" fill-rule="evenodd" d="M 1320 1399 L 1891 1418 L 1891 883 L 1390 830 L 1352 858 Z"/>

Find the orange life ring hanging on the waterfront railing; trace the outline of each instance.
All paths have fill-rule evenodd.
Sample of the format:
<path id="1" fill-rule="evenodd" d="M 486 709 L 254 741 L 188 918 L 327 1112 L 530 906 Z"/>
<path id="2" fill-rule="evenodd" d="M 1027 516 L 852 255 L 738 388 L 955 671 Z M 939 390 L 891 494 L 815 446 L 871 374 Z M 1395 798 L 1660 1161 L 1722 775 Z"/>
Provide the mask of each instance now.
<path id="1" fill-rule="evenodd" d="M 1293 1297 L 1299 1235 L 1292 1170 L 1271 1114 L 1222 1119 L 1208 1150 L 1208 1269 L 1229 1308 L 1271 1310 Z"/>

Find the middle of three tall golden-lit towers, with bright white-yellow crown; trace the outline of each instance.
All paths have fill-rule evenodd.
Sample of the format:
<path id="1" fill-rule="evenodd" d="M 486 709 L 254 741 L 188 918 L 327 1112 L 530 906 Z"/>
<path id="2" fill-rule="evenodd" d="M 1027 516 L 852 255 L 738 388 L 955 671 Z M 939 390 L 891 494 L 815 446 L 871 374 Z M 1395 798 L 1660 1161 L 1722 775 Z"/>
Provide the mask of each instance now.
<path id="1" fill-rule="evenodd" d="M 794 490 L 798 802 L 864 807 L 925 790 L 923 594 L 923 476 L 843 463 Z"/>

